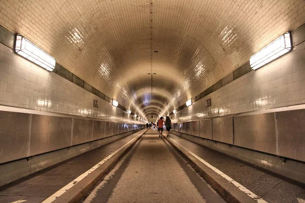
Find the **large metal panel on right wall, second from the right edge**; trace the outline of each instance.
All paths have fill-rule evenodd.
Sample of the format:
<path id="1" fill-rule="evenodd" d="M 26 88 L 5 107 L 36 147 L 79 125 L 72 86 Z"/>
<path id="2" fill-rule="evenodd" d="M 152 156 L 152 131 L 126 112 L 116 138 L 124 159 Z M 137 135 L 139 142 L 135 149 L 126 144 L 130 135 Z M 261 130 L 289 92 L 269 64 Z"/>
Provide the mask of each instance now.
<path id="1" fill-rule="evenodd" d="M 234 145 L 276 154 L 275 112 L 235 116 Z"/>

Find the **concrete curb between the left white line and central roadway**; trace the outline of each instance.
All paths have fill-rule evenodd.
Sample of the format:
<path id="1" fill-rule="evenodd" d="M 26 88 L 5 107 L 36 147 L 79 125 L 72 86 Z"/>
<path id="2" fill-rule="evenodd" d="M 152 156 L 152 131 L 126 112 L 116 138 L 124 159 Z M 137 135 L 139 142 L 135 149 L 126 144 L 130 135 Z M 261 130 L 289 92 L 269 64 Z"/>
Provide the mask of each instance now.
<path id="1" fill-rule="evenodd" d="M 111 168 L 119 161 L 121 157 L 123 157 L 136 143 L 140 140 L 145 132 L 142 132 L 142 135 L 139 136 L 136 140 L 132 143 L 127 145 L 125 148 L 120 150 L 114 156 L 112 156 L 109 160 L 107 160 L 104 164 L 99 166 L 94 172 L 89 174 L 83 180 L 78 182 L 75 186 L 70 188 L 67 192 L 63 195 L 59 196 L 57 199 L 53 201 L 53 203 L 62 203 L 62 202 L 69 202 L 69 203 L 76 203 L 79 202 L 83 197 L 85 197 L 88 192 L 101 180 L 103 177 L 111 170 Z"/>

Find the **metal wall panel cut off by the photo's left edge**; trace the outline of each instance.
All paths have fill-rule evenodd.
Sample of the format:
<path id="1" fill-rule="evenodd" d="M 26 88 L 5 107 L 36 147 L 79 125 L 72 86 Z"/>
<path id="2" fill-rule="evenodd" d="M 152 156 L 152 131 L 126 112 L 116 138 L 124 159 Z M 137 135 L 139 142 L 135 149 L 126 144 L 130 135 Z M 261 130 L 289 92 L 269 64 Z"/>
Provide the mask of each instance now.
<path id="1" fill-rule="evenodd" d="M 0 163 L 26 157 L 28 123 L 29 114 L 0 111 Z"/>

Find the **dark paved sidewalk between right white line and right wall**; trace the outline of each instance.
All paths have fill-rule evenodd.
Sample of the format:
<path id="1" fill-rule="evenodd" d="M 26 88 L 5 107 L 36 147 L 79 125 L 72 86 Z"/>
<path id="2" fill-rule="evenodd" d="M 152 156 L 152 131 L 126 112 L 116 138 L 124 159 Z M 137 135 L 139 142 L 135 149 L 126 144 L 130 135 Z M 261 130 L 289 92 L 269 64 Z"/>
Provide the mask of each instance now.
<path id="1" fill-rule="evenodd" d="M 188 149 L 248 190 L 271 203 L 303 203 L 305 188 L 261 171 L 220 152 L 171 134 L 168 140 Z M 174 142 L 173 142 L 174 141 Z"/>

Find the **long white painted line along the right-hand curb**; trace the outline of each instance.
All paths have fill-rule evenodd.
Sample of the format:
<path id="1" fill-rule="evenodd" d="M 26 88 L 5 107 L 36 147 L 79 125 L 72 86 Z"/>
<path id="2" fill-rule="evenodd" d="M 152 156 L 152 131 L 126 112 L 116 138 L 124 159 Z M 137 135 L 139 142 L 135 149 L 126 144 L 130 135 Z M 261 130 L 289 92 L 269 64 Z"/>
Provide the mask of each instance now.
<path id="1" fill-rule="evenodd" d="M 183 148 L 184 150 L 186 150 L 187 152 L 189 152 L 192 156 L 194 156 L 196 159 L 198 159 L 199 161 L 201 161 L 203 164 L 205 164 L 207 167 L 211 168 L 211 170 L 215 171 L 218 175 L 220 175 L 221 177 L 223 177 L 224 179 L 226 179 L 227 181 L 229 181 L 230 183 L 232 183 L 234 186 L 236 186 L 239 190 L 241 190 L 243 193 L 247 194 L 248 196 L 250 196 L 252 199 L 254 199 L 255 201 L 257 201 L 258 203 L 267 203 L 267 201 L 263 200 L 262 198 L 260 198 L 259 196 L 257 196 L 256 194 L 254 194 L 253 192 L 251 192 L 250 190 L 248 190 L 246 187 L 242 186 L 241 184 L 237 183 L 236 181 L 234 181 L 232 178 L 230 178 L 229 176 L 227 176 L 226 174 L 222 173 L 220 170 L 218 170 L 216 167 L 212 166 L 211 164 L 209 164 L 208 162 L 206 162 L 205 160 L 203 160 L 202 158 L 200 158 L 199 156 L 197 156 L 196 154 L 194 154 L 193 152 L 191 152 L 190 150 L 188 150 L 187 148 L 185 148 L 184 146 L 180 145 L 179 143 L 177 143 L 176 141 L 174 141 L 172 138 L 171 139 L 174 143 L 176 143 L 178 146 L 180 146 L 181 148 Z"/>

